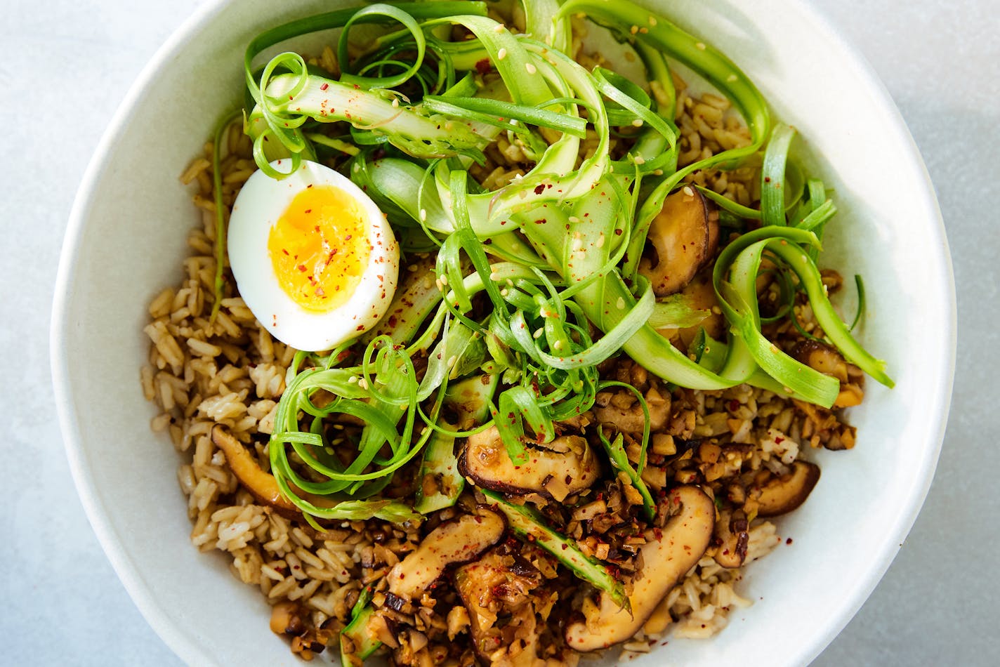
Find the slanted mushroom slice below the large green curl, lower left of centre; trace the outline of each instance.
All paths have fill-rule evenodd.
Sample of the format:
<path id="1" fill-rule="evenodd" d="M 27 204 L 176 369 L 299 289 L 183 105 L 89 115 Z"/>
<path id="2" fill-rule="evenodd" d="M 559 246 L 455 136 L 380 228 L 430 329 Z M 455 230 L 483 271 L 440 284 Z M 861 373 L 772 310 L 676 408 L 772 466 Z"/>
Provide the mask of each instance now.
<path id="1" fill-rule="evenodd" d="M 485 507 L 442 523 L 389 571 L 389 592 L 403 600 L 413 599 L 449 565 L 468 563 L 499 542 L 506 528 L 503 517 Z"/>

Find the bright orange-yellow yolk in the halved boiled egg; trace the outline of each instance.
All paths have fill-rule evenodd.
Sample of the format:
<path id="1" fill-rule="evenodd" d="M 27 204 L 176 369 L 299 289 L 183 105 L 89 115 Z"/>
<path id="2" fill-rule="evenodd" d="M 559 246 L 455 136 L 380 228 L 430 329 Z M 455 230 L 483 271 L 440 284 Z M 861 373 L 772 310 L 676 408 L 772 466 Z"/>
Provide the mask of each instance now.
<path id="1" fill-rule="evenodd" d="M 351 298 L 371 252 L 358 202 L 330 185 L 297 194 L 271 227 L 267 248 L 281 289 L 319 312 Z"/>

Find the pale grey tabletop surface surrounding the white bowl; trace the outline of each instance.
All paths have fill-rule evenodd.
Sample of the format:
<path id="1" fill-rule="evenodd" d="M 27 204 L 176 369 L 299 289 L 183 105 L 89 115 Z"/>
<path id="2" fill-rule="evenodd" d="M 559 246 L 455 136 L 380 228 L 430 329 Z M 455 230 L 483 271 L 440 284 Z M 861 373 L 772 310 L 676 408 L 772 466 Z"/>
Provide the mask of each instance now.
<path id="1" fill-rule="evenodd" d="M 920 146 L 948 228 L 959 314 L 954 402 L 927 503 L 885 579 L 814 664 L 995 665 L 1000 7 L 808 1 L 867 56 Z M 118 582 L 77 499 L 47 341 L 62 234 L 90 155 L 141 67 L 202 2 L 0 0 L 2 665 L 179 664 Z"/>

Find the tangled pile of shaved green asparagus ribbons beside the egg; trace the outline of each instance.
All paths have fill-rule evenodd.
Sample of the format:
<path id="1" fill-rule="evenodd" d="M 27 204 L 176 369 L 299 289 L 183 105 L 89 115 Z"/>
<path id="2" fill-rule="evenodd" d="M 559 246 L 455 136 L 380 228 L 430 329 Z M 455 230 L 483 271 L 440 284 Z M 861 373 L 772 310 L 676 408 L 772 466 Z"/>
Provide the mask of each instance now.
<path id="1" fill-rule="evenodd" d="M 597 365 L 622 351 L 675 385 L 749 382 L 830 407 L 838 382 L 761 333 L 756 282 L 765 256 L 783 295 L 808 299 L 827 341 L 892 386 L 883 362 L 835 312 L 816 267 L 836 207 L 820 181 L 803 176 L 789 154 L 794 129 L 772 124 L 746 75 L 711 45 L 627 0 L 526 0 L 523 8 L 525 34 L 489 18 L 480 2 L 373 4 L 292 21 L 247 48 L 244 127 L 260 168 L 281 178 L 271 160 L 289 158 L 293 167 L 328 161 L 382 208 L 405 251 L 434 253 L 433 267 L 425 262 L 401 287 L 407 297 L 377 335 L 329 353 L 300 352 L 289 368 L 269 456 L 282 491 L 307 517 L 418 520 L 383 492 L 396 472 L 421 463 L 435 433 L 463 435 L 438 417 L 449 383 L 473 375 L 498 379 L 489 417 L 473 430 L 494 424 L 515 462 L 525 460 L 527 441 L 552 440 L 556 422 L 592 407 L 611 386 L 601 383 Z M 567 54 L 569 17 L 578 14 L 632 44 L 648 90 L 606 69 L 589 71 Z M 383 30 L 352 58 L 349 40 L 361 24 Z M 269 47 L 331 28 L 343 28 L 339 75 L 290 51 L 255 64 Z M 470 38 L 453 41 L 456 32 Z M 732 103 L 749 129 L 748 145 L 678 168 L 669 59 Z M 612 133 L 626 131 L 631 150 L 612 156 Z M 581 159 L 587 137 L 592 145 Z M 487 189 L 474 167 L 500 139 L 531 166 Z M 714 266 L 727 340 L 701 336 L 688 356 L 653 324 L 689 326 L 705 313 L 680 297 L 657 303 L 638 260 L 664 199 L 685 177 L 748 160 L 763 165 L 761 210 L 703 190 L 729 227 L 761 226 L 728 242 Z M 793 309 L 782 316 L 794 319 Z M 422 375 L 414 364 L 421 356 Z M 335 415 L 364 426 L 331 428 Z M 619 440 L 601 435 L 648 512 L 653 501 L 640 477 L 648 423 L 635 468 Z M 301 464 L 312 474 L 302 474 Z M 296 489 L 331 502 L 317 506 Z"/>

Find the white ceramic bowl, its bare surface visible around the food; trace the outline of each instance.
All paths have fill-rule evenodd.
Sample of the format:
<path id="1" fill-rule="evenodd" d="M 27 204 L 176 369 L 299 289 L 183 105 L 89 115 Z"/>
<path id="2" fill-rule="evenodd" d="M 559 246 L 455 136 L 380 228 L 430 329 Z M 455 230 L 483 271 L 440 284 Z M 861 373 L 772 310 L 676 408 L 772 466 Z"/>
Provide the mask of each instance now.
<path id="1" fill-rule="evenodd" d="M 295 10 L 290 6 L 295 5 Z M 208 2 L 146 67 L 104 136 L 67 231 L 53 313 L 53 375 L 80 497 L 108 558 L 153 628 L 198 665 L 297 664 L 267 628 L 259 592 L 198 553 L 154 435 L 138 369 L 150 298 L 180 276 L 197 222 L 177 176 L 239 99 L 244 45 L 328 0 Z M 664 5 L 668 3 L 663 3 Z M 841 210 L 830 263 L 868 287 L 863 339 L 897 387 L 869 383 L 850 452 L 820 452 L 823 478 L 783 518 L 790 546 L 749 568 L 754 600 L 710 641 L 671 639 L 652 664 L 804 664 L 844 627 L 906 537 L 933 475 L 951 391 L 954 286 L 920 156 L 860 55 L 808 6 L 773 0 L 669 3 L 722 48 L 796 125 Z M 818 85 L 820 82 L 821 85 Z M 849 243 L 849 247 L 848 247 Z M 839 246 L 838 246 L 839 244 Z"/>

